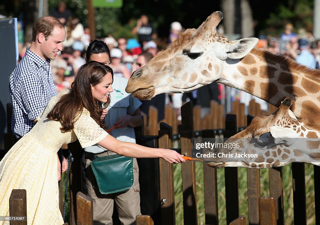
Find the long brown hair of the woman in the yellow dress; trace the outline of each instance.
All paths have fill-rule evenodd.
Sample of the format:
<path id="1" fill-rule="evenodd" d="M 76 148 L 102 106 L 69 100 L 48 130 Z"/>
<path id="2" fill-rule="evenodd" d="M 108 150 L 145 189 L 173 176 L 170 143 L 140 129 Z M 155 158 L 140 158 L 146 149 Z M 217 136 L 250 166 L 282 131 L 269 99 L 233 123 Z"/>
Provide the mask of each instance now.
<path id="1" fill-rule="evenodd" d="M 74 122 L 81 115 L 83 108 L 86 108 L 94 121 L 103 127 L 104 123 L 100 120 L 102 102 L 93 99 L 90 84 L 93 86 L 100 84 L 107 73 L 111 73 L 113 80 L 112 69 L 96 61 L 90 61 L 78 68 L 71 91 L 60 98 L 49 112 L 48 118 L 60 121 L 60 130 L 66 132 L 74 128 Z M 109 104 L 110 96 L 103 108 L 107 108 Z"/>

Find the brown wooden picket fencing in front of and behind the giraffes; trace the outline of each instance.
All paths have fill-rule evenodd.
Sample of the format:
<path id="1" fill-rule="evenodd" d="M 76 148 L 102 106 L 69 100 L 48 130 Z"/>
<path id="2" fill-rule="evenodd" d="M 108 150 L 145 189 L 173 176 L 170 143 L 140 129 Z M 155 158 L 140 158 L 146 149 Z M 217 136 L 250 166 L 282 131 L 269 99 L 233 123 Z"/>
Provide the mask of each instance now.
<path id="1" fill-rule="evenodd" d="M 176 112 L 174 109 L 166 108 L 165 121 L 171 123 L 171 125 L 164 122 L 160 124 L 156 122 L 156 125 L 154 125 L 154 122 L 152 122 L 154 119 L 150 119 L 149 122 L 144 120 L 144 123 L 148 123 L 148 125 L 147 128 L 144 127 L 145 129 L 136 129 L 137 143 L 148 147 L 172 148 L 173 136 L 176 132 L 179 132 L 181 144 L 180 148 L 175 150 L 183 155 L 191 156 L 192 138 L 195 137 L 194 131 L 196 129 L 200 131 L 200 138 L 213 138 L 219 134 L 217 130 L 222 131 L 224 137 L 230 137 L 238 132 L 239 127 L 245 127 L 244 123 L 250 124 L 253 116 L 245 115 L 243 108 L 239 102 L 236 102 L 233 107 L 234 111 L 230 112 L 232 114 L 224 116 L 223 108 L 212 102 L 210 115 L 204 119 L 199 119 L 199 108 L 193 107 L 192 103 L 188 102 L 181 108 L 181 122 L 175 121 Z M 254 106 L 251 102 L 249 113 L 252 112 L 254 116 L 267 114 L 257 108 L 257 105 Z M 274 109 L 276 108 L 271 109 L 270 112 L 272 113 Z M 239 117 L 240 120 L 238 120 Z M 149 114 L 149 118 L 156 117 Z M 224 121 L 224 123 L 222 124 L 220 121 Z M 158 127 L 155 135 L 149 133 L 156 130 L 156 128 L 150 128 L 152 126 Z M 79 172 L 82 157 L 80 149 L 78 142 L 68 145 L 68 150 L 72 152 L 75 158 L 70 170 L 70 224 L 92 224 L 90 220 L 92 219 L 92 200 L 81 193 L 81 180 L 83 178 L 81 177 L 82 173 Z M 173 165 L 163 159 L 148 158 L 138 159 L 138 164 L 140 167 L 141 212 L 144 215 L 137 218 L 137 224 L 176 224 Z M 195 163 L 188 161 L 183 163 L 181 167 L 183 223 L 184 225 L 195 225 L 198 224 Z M 218 208 L 220 208 L 220 205 L 218 205 L 217 170 L 224 170 L 225 173 L 225 193 L 223 195 L 226 203 L 227 224 L 286 224 L 284 221 L 281 167 L 268 169 L 269 196 L 260 196 L 260 170 L 247 169 L 248 215 L 239 215 L 238 168 L 215 169 L 203 164 L 205 224 L 219 224 Z M 292 163 L 293 214 L 294 224 L 296 225 L 307 224 L 304 173 L 304 164 Z M 314 166 L 316 221 L 314 224 L 316 225 L 320 224 L 319 173 L 319 167 Z M 86 217 L 81 221 L 79 217 L 84 215 Z"/>

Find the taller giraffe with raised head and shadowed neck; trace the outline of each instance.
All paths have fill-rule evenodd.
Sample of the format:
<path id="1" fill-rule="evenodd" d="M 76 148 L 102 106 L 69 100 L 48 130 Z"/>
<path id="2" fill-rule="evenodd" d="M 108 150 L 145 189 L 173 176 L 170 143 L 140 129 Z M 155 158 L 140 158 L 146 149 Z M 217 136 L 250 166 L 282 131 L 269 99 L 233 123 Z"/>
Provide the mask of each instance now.
<path id="1" fill-rule="evenodd" d="M 230 41 L 217 33 L 222 12 L 197 29 L 187 29 L 147 65 L 132 73 L 126 92 L 139 99 L 160 93 L 190 92 L 212 82 L 248 92 L 272 105 L 291 93 L 297 117 L 320 123 L 320 70 L 255 48 L 257 38 Z"/>

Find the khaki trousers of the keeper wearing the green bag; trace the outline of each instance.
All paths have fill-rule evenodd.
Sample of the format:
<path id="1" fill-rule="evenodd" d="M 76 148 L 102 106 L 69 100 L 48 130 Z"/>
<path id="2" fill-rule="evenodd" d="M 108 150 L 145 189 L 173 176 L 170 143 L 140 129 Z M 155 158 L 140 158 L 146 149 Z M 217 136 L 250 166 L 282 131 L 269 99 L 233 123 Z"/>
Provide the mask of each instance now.
<path id="1" fill-rule="evenodd" d="M 113 155 L 111 151 L 98 154 L 98 157 Z M 140 185 L 137 159 L 133 158 L 133 186 L 123 192 L 101 194 L 90 166 L 90 159 L 85 159 L 85 184 L 88 196 L 93 199 L 93 224 L 112 225 L 114 203 L 122 225 L 135 225 L 140 211 Z M 115 181 L 117 182 L 117 181 Z"/>

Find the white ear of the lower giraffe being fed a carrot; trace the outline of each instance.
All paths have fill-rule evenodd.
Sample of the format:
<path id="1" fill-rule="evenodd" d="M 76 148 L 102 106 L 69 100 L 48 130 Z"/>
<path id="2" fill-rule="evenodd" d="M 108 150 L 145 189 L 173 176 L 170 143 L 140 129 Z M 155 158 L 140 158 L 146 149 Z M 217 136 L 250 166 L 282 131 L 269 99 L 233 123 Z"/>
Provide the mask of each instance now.
<path id="1" fill-rule="evenodd" d="M 270 126 L 269 131 L 276 144 L 284 144 L 285 146 L 291 146 L 299 137 L 296 132 L 281 126 Z"/>

